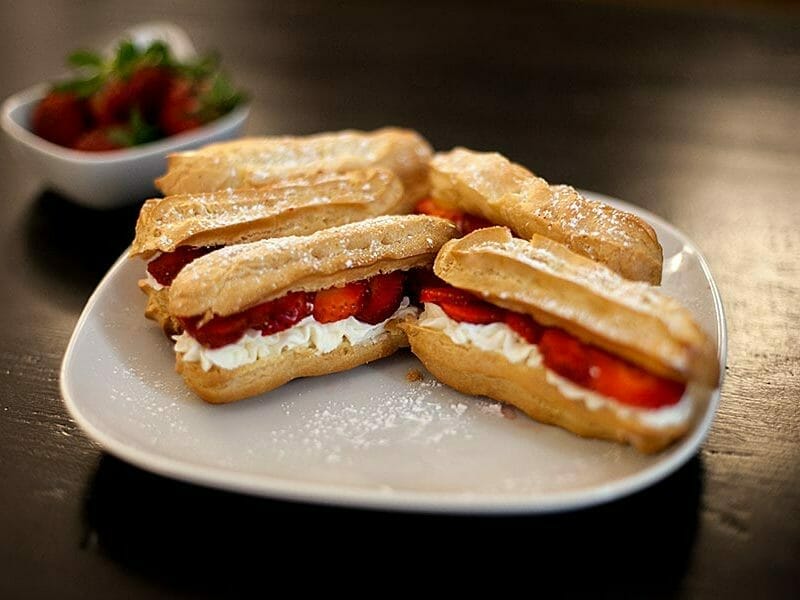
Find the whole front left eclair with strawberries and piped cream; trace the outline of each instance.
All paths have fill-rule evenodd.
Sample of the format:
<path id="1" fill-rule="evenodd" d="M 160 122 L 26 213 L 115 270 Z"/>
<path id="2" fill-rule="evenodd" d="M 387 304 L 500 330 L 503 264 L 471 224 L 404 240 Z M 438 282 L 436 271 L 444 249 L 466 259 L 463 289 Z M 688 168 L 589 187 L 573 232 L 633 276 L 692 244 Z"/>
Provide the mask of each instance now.
<path id="1" fill-rule="evenodd" d="M 445 219 L 384 216 L 202 256 L 170 286 L 177 370 L 223 403 L 389 356 L 407 345 L 417 272 L 455 234 Z"/>

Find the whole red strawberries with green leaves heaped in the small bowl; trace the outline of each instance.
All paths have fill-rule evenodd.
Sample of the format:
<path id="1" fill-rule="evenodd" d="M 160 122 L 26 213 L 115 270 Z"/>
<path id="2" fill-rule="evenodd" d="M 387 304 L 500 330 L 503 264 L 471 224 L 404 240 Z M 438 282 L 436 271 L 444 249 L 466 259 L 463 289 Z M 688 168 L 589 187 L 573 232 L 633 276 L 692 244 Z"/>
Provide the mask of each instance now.
<path id="1" fill-rule="evenodd" d="M 103 152 L 191 131 L 231 112 L 243 96 L 212 57 L 181 62 L 161 40 L 123 40 L 109 58 L 69 55 L 75 76 L 52 86 L 33 112 L 39 137 Z"/>

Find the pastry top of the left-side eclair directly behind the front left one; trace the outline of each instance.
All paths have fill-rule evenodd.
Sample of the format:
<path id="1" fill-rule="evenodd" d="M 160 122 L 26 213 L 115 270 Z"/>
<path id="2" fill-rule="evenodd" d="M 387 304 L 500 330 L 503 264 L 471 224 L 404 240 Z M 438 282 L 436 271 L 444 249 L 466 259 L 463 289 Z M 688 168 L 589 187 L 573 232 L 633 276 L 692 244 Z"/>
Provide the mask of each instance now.
<path id="1" fill-rule="evenodd" d="M 181 245 L 220 246 L 306 235 L 400 212 L 403 185 L 387 169 L 312 173 L 252 189 L 176 194 L 148 200 L 130 255 L 149 257 Z"/>

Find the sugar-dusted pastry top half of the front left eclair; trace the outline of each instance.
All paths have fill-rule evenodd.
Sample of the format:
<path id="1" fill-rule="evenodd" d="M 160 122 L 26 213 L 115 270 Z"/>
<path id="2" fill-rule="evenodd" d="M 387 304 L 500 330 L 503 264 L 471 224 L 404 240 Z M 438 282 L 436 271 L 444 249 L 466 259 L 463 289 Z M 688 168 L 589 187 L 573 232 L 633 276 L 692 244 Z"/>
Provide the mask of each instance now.
<path id="1" fill-rule="evenodd" d="M 430 265 L 455 235 L 455 226 L 445 219 L 396 215 L 228 246 L 184 267 L 170 286 L 169 312 L 230 315 L 291 291 Z"/>

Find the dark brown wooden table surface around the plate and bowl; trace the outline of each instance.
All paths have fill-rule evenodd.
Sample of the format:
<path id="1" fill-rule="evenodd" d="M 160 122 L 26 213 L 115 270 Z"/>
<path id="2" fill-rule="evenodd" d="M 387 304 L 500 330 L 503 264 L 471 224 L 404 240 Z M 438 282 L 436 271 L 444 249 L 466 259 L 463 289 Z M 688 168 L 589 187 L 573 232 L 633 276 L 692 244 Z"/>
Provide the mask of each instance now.
<path id="1" fill-rule="evenodd" d="M 646 3 L 643 3 L 646 4 Z M 0 97 L 66 50 L 166 18 L 250 90 L 250 133 L 398 124 L 497 149 L 551 181 L 662 215 L 727 311 L 721 406 L 698 455 L 591 510 L 457 518 L 274 502 L 161 478 L 67 415 L 60 361 L 136 208 L 48 192 L 0 144 L 0 597 L 170 597 L 289 583 L 375 594 L 800 597 L 800 19 L 545 3 L 0 4 Z M 299 578 L 290 569 L 301 567 Z M 386 586 L 365 585 L 375 575 Z"/>

